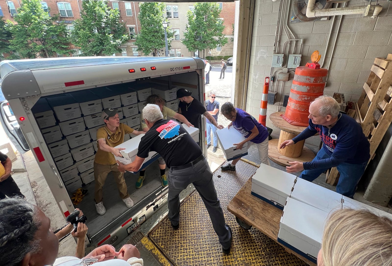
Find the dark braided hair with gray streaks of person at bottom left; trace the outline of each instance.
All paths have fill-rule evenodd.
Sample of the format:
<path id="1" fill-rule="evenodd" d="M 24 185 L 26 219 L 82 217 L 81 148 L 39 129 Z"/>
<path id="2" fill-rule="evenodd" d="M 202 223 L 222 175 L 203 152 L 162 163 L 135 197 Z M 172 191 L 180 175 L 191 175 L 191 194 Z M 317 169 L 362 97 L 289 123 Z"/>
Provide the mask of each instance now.
<path id="1" fill-rule="evenodd" d="M 20 197 L 0 200 L 0 266 L 17 266 L 27 253 L 39 250 L 36 212 L 36 206 Z"/>

